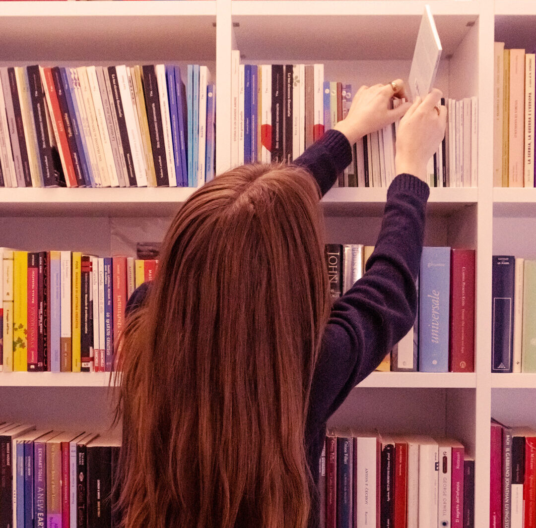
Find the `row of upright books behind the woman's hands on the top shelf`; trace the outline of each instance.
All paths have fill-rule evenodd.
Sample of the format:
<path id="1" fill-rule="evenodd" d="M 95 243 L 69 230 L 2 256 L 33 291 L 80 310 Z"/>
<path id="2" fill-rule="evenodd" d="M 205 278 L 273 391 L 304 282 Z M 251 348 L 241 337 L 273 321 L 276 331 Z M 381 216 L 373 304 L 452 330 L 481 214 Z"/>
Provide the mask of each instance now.
<path id="1" fill-rule="evenodd" d="M 344 119 L 352 104 L 352 85 L 325 80 L 323 64 L 244 65 L 234 51 L 232 68 L 232 165 L 292 162 Z M 392 104 L 402 101 L 393 99 Z M 477 98 L 443 99 L 442 104 L 448 110 L 448 126 L 428 164 L 428 183 L 476 186 Z M 398 122 L 354 145 L 352 163 L 335 185 L 389 186 L 396 176 L 397 130 Z"/>

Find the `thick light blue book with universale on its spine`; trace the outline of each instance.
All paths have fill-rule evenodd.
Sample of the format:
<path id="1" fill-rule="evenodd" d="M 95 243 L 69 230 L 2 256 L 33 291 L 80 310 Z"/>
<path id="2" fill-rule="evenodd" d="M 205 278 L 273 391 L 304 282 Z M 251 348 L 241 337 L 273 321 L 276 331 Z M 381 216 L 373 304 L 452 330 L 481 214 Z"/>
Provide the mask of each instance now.
<path id="1" fill-rule="evenodd" d="M 419 371 L 449 372 L 450 247 L 423 247 Z"/>

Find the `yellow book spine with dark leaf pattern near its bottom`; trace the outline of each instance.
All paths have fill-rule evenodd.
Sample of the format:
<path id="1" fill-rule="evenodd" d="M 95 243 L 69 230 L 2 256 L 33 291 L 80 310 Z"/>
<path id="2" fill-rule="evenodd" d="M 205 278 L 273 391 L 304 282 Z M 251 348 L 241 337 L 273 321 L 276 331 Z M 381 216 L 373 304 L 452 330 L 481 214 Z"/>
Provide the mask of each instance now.
<path id="1" fill-rule="evenodd" d="M 13 370 L 28 369 L 28 253 L 13 252 Z"/>

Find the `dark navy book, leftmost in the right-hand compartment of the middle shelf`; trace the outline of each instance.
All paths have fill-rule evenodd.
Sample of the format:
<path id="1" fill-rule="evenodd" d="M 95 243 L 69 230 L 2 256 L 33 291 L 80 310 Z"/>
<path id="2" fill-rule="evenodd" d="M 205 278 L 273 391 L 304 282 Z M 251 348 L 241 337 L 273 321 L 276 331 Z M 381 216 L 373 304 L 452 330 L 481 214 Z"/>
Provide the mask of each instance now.
<path id="1" fill-rule="evenodd" d="M 515 257 L 493 256 L 492 372 L 512 372 L 515 268 Z"/>

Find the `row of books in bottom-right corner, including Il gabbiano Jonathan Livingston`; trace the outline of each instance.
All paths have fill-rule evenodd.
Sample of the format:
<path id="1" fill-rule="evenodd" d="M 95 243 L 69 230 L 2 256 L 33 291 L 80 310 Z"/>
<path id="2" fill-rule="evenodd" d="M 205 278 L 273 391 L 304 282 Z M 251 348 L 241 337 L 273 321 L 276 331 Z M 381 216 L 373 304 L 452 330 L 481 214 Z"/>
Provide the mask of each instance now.
<path id="1" fill-rule="evenodd" d="M 492 419 L 490 463 L 490 526 L 536 526 L 536 429 Z"/>

